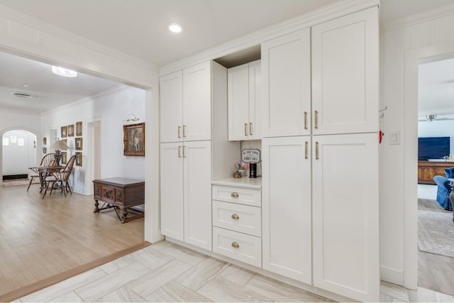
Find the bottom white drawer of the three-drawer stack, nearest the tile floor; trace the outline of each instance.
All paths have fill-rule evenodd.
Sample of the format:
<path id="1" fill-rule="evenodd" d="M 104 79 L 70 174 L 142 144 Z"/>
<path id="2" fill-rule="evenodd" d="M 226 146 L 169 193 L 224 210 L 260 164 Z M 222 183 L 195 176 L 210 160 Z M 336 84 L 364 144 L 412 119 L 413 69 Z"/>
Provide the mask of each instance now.
<path id="1" fill-rule="evenodd" d="M 213 251 L 250 265 L 262 267 L 262 239 L 213 227 Z"/>

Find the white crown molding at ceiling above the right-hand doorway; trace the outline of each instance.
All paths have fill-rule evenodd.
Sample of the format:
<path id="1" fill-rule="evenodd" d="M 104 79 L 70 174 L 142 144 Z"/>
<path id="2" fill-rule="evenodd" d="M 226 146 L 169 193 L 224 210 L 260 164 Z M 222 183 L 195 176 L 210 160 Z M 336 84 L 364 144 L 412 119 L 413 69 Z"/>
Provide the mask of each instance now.
<path id="1" fill-rule="evenodd" d="M 387 31 L 394 31 L 399 28 L 405 28 L 407 26 L 414 26 L 415 24 L 432 21 L 436 18 L 442 18 L 445 16 L 454 14 L 454 4 L 448 6 L 441 6 L 431 11 L 424 11 L 423 13 L 415 13 L 414 15 L 406 16 L 395 21 L 383 23 L 380 26 L 380 31 L 385 33 Z"/>

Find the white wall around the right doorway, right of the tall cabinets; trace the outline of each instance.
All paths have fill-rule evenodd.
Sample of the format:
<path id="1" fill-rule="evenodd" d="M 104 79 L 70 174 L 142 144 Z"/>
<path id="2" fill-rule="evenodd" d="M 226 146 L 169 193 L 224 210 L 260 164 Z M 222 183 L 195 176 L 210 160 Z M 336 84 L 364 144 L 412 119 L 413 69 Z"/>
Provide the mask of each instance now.
<path id="1" fill-rule="evenodd" d="M 408 190 L 416 189 L 416 160 L 407 167 L 405 160 L 414 156 L 416 150 L 416 130 L 414 134 L 407 125 L 416 128 L 417 115 L 405 121 L 406 113 L 417 109 L 417 98 L 407 102 L 406 85 L 409 85 L 409 66 L 406 60 L 414 50 L 422 48 L 436 48 L 437 45 L 452 42 L 454 36 L 454 7 L 443 8 L 438 11 L 426 12 L 419 16 L 409 16 L 402 21 L 382 25 L 381 34 L 381 107 L 388 106 L 384 111 L 384 118 L 380 126 L 385 133 L 384 143 L 380 145 L 380 263 L 382 279 L 414 287 L 416 272 L 409 272 L 409 266 L 416 265 L 416 246 L 408 248 L 407 238 L 415 235 L 404 234 L 404 226 L 409 221 L 416 221 L 416 211 L 407 211 L 405 197 Z M 416 69 L 417 67 L 412 67 Z M 417 75 L 416 75 L 417 76 Z M 411 129 L 411 128 L 410 128 Z M 392 131 L 399 131 L 402 138 L 397 145 L 389 144 L 389 135 Z M 406 137 L 407 131 L 411 138 Z M 415 138 L 413 138 L 413 136 Z M 405 146 L 408 145 L 408 146 Z M 416 145 L 417 146 L 417 145 Z M 406 148 L 407 147 L 407 148 Z M 411 158 L 410 157 L 410 158 Z M 404 170 L 411 171 L 414 186 L 407 186 Z M 415 194 L 416 197 L 416 194 Z M 417 200 L 414 199 L 416 205 Z M 413 203 L 410 201 L 409 203 Z M 416 206 L 414 206 L 416 209 Z M 405 209 L 405 211 L 404 211 Z M 410 241 L 411 242 L 411 241 Z M 406 250 L 406 249 L 409 250 Z M 409 262 L 412 263 L 409 265 Z M 404 275 L 405 271 L 405 275 Z M 415 274 L 415 275 L 413 275 Z M 409 277 L 413 275 L 414 277 Z M 409 282 L 411 280 L 411 282 Z"/>

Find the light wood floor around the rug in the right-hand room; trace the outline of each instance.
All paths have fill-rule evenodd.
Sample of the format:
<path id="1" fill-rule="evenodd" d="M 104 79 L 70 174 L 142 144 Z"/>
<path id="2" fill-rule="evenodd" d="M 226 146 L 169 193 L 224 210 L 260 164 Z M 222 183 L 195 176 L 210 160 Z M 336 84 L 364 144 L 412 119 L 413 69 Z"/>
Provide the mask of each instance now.
<path id="1" fill-rule="evenodd" d="M 445 211 L 438 203 L 428 199 L 418 199 L 418 209 L 443 211 L 452 214 L 452 211 Z M 422 251 L 418 252 L 418 285 L 420 287 L 454 296 L 453 277 L 454 258 Z"/>

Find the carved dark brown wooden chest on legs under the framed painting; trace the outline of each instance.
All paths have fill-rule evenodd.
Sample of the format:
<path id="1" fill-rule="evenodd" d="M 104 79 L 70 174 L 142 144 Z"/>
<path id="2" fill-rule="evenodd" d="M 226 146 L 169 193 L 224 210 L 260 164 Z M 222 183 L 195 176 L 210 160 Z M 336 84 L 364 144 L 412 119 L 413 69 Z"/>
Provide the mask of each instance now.
<path id="1" fill-rule="evenodd" d="M 94 213 L 103 209 L 114 209 L 121 223 L 128 219 L 138 219 L 143 217 L 143 211 L 128 218 L 128 209 L 132 206 L 145 203 L 145 182 L 141 180 L 127 179 L 123 177 L 112 177 L 106 179 L 93 180 L 94 186 Z M 99 208 L 99 201 L 104 205 Z M 120 216 L 117 209 L 122 209 Z"/>

